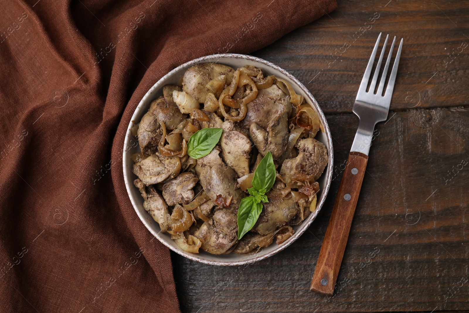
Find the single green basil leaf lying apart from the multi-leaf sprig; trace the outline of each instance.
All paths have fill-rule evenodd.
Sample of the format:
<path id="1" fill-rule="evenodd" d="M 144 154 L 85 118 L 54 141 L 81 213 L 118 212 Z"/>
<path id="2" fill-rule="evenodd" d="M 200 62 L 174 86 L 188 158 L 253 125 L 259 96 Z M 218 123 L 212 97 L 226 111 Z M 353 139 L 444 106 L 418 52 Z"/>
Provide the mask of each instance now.
<path id="1" fill-rule="evenodd" d="M 192 159 L 199 159 L 209 154 L 215 145 L 220 140 L 221 128 L 204 128 L 197 130 L 190 136 L 189 143 L 187 144 L 187 154 Z"/>

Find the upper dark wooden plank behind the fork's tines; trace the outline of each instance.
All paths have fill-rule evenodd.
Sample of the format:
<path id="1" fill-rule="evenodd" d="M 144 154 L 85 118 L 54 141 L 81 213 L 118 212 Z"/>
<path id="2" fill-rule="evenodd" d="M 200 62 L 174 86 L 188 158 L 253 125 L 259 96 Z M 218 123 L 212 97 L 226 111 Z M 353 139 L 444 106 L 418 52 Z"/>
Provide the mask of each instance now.
<path id="1" fill-rule="evenodd" d="M 330 16 L 253 54 L 300 79 L 325 112 L 351 112 L 372 47 L 382 31 L 404 38 L 391 110 L 468 104 L 467 2 L 393 0 L 385 6 L 387 2 L 340 0 Z M 373 16 L 379 17 L 360 34 Z M 360 36 L 353 41 L 357 31 Z M 345 43 L 350 45 L 347 49 L 342 48 Z M 462 43 L 468 46 L 462 48 Z M 451 62 L 447 53 L 458 48 L 462 52 L 454 53 Z M 337 51 L 334 61 L 332 54 Z"/>

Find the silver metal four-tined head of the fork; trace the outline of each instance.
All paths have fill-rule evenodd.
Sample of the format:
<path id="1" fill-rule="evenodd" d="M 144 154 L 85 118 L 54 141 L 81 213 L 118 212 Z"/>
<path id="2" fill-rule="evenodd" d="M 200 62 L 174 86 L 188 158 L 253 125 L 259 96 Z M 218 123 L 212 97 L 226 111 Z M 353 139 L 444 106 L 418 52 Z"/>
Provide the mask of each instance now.
<path id="1" fill-rule="evenodd" d="M 389 35 L 386 36 L 386 40 L 384 42 L 381 54 L 379 55 L 375 72 L 371 78 L 370 89 L 366 91 L 368 83 L 370 82 L 371 69 L 373 68 L 373 63 L 378 51 L 379 40 L 381 39 L 381 33 L 379 33 L 378 39 L 376 40 L 376 44 L 373 48 L 373 52 L 370 56 L 370 61 L 368 61 L 368 66 L 366 67 L 365 74 L 363 75 L 362 83 L 358 89 L 355 104 L 353 106 L 353 112 L 360 118 L 360 127 L 368 128 L 368 131 L 370 131 L 371 128 L 371 133 L 373 132 L 374 126 L 377 122 L 385 121 L 387 118 L 387 113 L 389 111 L 389 105 L 391 104 L 391 97 L 393 95 L 393 89 L 396 80 L 397 66 L 399 65 L 399 59 L 401 57 L 403 39 L 401 39 L 399 49 L 397 50 L 393 69 L 391 70 L 391 75 L 388 75 L 387 71 L 389 69 L 389 63 L 393 55 L 394 43 L 396 41 L 396 37 L 394 36 L 393 43 L 391 44 L 391 48 L 389 49 L 389 54 L 386 59 L 386 65 L 384 66 L 384 69 L 381 68 L 381 62 L 383 61 L 388 37 Z M 378 83 L 378 74 L 380 69 L 383 70 L 383 74 L 381 75 L 377 89 L 376 84 Z M 386 87 L 386 92 L 383 95 L 386 76 L 389 76 L 389 82 Z"/>

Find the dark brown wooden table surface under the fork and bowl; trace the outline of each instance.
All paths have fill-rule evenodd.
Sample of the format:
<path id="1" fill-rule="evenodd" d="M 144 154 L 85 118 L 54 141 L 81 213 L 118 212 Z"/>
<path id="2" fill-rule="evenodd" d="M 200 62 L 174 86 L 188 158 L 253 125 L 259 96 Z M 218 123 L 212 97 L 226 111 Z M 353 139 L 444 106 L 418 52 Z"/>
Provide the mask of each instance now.
<path id="1" fill-rule="evenodd" d="M 173 253 L 182 312 L 469 309 L 469 3 L 388 1 L 340 0 L 330 16 L 252 53 L 287 69 L 318 100 L 334 137 L 336 175 L 309 230 L 271 258 L 234 268 Z M 404 38 L 401 62 L 328 298 L 309 286 L 358 126 L 353 102 L 380 31 Z"/>

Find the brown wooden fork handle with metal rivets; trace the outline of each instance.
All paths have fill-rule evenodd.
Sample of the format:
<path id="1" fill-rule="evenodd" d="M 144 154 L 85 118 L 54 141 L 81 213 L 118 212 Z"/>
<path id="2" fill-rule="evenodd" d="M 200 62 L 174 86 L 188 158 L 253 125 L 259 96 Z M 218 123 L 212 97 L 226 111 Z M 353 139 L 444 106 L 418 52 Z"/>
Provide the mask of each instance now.
<path id="1" fill-rule="evenodd" d="M 332 295 L 334 292 L 367 161 L 368 156 L 363 153 L 350 152 L 348 155 L 311 281 L 310 289 L 318 293 Z"/>

